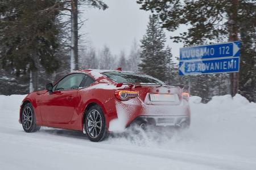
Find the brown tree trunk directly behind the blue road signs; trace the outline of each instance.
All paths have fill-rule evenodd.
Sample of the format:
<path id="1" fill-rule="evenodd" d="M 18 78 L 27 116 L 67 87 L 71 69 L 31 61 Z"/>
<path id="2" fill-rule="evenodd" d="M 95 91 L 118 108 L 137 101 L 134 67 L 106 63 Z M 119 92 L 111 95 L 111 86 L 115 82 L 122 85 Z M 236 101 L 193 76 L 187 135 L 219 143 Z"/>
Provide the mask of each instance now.
<path id="1" fill-rule="evenodd" d="M 238 0 L 232 0 L 229 4 L 229 10 L 228 10 L 229 41 L 238 40 L 237 9 L 238 9 Z M 239 89 L 239 73 L 230 73 L 229 76 L 230 76 L 231 95 L 234 96 L 238 93 L 238 89 Z"/>

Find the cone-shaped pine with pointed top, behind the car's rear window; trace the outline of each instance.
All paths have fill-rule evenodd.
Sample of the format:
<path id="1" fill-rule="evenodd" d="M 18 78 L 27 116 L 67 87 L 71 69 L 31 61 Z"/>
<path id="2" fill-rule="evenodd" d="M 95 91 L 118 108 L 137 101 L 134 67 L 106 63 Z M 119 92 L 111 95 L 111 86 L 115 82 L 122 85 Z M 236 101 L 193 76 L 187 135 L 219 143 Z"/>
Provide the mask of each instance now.
<path id="1" fill-rule="evenodd" d="M 166 36 L 159 25 L 157 15 L 151 15 L 146 35 L 141 40 L 141 63 L 139 70 L 162 81 L 167 80 L 167 57 L 170 52 L 165 49 Z"/>

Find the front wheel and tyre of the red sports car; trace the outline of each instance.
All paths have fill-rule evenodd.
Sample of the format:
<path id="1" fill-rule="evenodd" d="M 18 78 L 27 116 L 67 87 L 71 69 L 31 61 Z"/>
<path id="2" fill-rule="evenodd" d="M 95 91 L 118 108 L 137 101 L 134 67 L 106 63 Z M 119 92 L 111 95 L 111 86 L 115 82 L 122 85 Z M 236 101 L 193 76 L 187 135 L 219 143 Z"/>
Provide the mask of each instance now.
<path id="1" fill-rule="evenodd" d="M 36 125 L 34 108 L 30 103 L 25 104 L 22 109 L 21 122 L 24 131 L 27 133 L 38 131 L 41 128 Z"/>

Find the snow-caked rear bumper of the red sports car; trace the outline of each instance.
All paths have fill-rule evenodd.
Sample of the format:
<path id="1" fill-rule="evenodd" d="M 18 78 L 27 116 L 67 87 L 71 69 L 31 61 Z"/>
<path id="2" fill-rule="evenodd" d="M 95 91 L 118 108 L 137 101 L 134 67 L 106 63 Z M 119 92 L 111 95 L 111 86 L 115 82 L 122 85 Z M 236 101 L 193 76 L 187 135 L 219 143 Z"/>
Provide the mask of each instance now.
<path id="1" fill-rule="evenodd" d="M 179 105 L 146 105 L 141 100 L 116 103 L 117 116 L 126 121 L 126 127 L 134 122 L 146 122 L 156 126 L 180 126 L 182 122 L 190 125 L 191 111 L 187 101 Z"/>

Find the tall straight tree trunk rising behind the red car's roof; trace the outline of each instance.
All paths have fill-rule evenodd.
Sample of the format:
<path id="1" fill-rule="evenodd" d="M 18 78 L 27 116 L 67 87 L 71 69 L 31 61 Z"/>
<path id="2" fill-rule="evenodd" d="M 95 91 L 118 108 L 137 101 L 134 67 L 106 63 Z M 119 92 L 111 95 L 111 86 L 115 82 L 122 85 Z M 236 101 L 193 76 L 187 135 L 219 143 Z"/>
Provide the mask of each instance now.
<path id="1" fill-rule="evenodd" d="M 79 69 L 78 2 L 71 0 L 71 71 Z"/>

